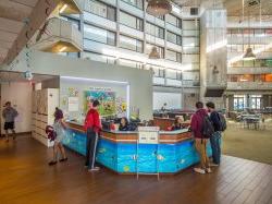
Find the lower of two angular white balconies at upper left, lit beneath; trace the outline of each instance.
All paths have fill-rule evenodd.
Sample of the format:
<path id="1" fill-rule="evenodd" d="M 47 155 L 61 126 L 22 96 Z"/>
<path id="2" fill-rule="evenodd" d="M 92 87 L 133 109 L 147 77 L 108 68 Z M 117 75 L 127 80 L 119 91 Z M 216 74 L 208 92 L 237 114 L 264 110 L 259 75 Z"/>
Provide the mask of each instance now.
<path id="1" fill-rule="evenodd" d="M 52 17 L 36 35 L 34 47 L 48 52 L 78 52 L 83 50 L 83 35 L 72 22 Z"/>

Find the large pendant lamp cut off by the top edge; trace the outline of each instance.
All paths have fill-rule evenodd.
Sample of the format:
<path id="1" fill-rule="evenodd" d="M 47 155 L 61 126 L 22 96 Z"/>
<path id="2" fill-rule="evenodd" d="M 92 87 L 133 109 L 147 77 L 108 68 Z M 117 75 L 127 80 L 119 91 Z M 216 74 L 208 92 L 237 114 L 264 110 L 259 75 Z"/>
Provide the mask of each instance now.
<path id="1" fill-rule="evenodd" d="M 172 11 L 172 4 L 169 0 L 149 0 L 147 12 L 154 16 L 165 15 Z"/>

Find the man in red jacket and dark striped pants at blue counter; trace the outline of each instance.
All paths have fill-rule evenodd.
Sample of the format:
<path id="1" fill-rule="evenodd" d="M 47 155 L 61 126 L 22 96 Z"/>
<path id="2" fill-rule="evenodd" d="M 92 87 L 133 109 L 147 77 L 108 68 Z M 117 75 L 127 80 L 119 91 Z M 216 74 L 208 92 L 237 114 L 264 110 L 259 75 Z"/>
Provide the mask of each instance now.
<path id="1" fill-rule="evenodd" d="M 100 116 L 97 111 L 99 105 L 100 103 L 98 100 L 92 101 L 84 123 L 84 129 L 87 132 L 85 166 L 88 168 L 89 171 L 99 170 L 99 167 L 95 167 L 98 136 L 100 130 L 102 129 L 99 119 Z"/>

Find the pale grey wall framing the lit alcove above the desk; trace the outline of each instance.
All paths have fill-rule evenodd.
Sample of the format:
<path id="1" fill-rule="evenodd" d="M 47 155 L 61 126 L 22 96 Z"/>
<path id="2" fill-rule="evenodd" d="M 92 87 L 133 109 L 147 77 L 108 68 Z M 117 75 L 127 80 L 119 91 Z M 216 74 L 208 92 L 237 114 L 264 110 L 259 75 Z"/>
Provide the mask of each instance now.
<path id="1" fill-rule="evenodd" d="M 14 64 L 13 70 L 18 72 L 26 71 L 24 50 L 17 59 L 18 63 Z M 30 71 L 33 73 L 128 82 L 131 86 L 131 107 L 139 108 L 140 119 L 152 119 L 151 71 L 67 58 L 40 51 L 33 51 L 30 59 Z M 2 69 L 8 70 L 9 67 L 3 67 Z"/>

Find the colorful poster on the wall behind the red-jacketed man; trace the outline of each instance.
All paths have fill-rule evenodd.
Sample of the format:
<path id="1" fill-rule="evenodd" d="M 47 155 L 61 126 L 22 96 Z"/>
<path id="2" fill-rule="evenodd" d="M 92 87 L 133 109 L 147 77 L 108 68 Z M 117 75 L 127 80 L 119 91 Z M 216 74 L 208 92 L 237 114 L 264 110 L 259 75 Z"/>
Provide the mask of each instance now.
<path id="1" fill-rule="evenodd" d="M 84 92 L 84 110 L 87 112 L 89 109 L 90 100 L 97 99 L 100 103 L 98 109 L 99 113 L 103 117 L 114 116 L 115 111 L 115 92 L 103 91 L 85 91 Z"/>

